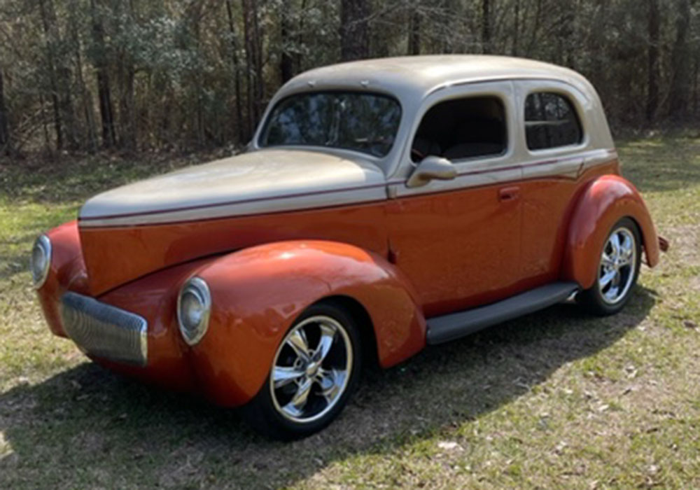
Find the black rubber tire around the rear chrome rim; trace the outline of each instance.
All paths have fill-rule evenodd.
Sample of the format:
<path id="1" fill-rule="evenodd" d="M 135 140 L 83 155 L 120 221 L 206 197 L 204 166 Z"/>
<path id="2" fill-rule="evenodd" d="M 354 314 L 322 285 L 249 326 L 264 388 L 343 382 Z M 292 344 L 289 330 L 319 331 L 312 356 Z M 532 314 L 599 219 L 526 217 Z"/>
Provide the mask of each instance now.
<path id="1" fill-rule="evenodd" d="M 602 263 L 603 251 L 605 251 L 606 248 L 609 247 L 608 244 L 612 237 L 612 234 L 617 233 L 620 230 L 626 230 L 626 232 L 629 232 L 629 234 L 633 237 L 634 258 L 631 261 L 632 268 L 628 271 L 628 273 L 631 274 L 631 277 L 624 277 L 624 293 L 620 294 L 619 297 L 615 297 L 615 300 L 611 302 L 610 298 L 606 300 L 605 288 L 601 288 L 600 282 L 602 279 L 601 276 L 604 275 L 604 266 Z M 624 234 L 624 232 L 622 233 Z M 598 262 L 598 267 L 596 269 L 595 283 L 593 284 L 593 286 L 591 286 L 591 288 L 583 290 L 577 296 L 577 302 L 578 304 L 580 304 L 582 309 L 594 315 L 608 316 L 616 314 L 618 311 L 624 308 L 624 305 L 629 301 L 629 297 L 631 296 L 632 290 L 634 289 L 634 285 L 637 283 L 637 279 L 639 276 L 639 268 L 641 264 L 641 252 L 641 235 L 636 223 L 634 223 L 634 221 L 632 221 L 631 218 L 622 218 L 621 220 L 617 221 L 617 223 L 615 223 L 615 225 L 612 228 L 610 228 L 610 231 L 608 232 L 608 237 L 605 239 L 605 243 L 603 244 L 603 249 L 598 253 L 600 262 Z M 620 276 L 622 277 L 622 273 L 620 274 Z M 629 285 L 626 285 L 628 279 Z"/>

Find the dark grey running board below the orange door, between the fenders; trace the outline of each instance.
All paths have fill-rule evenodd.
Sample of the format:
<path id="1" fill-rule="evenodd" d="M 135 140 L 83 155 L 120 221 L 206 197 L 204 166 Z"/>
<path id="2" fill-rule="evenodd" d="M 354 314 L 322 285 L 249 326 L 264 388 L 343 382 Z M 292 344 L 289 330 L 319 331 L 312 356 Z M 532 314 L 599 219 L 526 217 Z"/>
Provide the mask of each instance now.
<path id="1" fill-rule="evenodd" d="M 442 344 L 483 328 L 532 313 L 566 300 L 579 290 L 575 282 L 555 282 L 493 304 L 429 318 L 428 344 Z"/>

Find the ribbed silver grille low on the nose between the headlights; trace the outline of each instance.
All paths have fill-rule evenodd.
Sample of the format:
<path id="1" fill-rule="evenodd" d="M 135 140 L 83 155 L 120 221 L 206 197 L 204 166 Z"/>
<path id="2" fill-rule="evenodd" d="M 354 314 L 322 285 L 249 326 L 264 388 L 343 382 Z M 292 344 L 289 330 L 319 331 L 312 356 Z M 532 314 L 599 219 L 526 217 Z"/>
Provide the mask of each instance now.
<path id="1" fill-rule="evenodd" d="M 66 293 L 61 298 L 61 317 L 66 334 L 85 353 L 146 365 L 148 323 L 141 316 L 89 296 Z"/>

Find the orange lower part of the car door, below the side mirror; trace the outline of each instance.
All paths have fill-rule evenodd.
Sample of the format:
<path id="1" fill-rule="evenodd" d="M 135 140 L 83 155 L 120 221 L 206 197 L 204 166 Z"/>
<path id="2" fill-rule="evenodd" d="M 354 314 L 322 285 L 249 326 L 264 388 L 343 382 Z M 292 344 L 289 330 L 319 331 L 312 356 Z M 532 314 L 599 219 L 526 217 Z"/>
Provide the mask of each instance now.
<path id="1" fill-rule="evenodd" d="M 387 202 L 396 265 L 418 291 L 426 316 L 498 300 L 519 281 L 521 200 L 500 201 L 503 187 Z"/>

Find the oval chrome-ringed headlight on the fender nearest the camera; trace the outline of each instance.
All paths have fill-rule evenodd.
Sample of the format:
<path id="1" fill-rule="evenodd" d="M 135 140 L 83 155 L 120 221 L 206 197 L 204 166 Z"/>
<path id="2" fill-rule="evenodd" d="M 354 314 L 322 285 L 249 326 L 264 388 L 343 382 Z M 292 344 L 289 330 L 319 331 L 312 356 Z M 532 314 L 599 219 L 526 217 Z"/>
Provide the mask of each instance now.
<path id="1" fill-rule="evenodd" d="M 177 299 L 177 320 L 183 339 L 189 345 L 200 342 L 209 327 L 211 293 L 209 286 L 199 277 L 185 283 Z"/>

